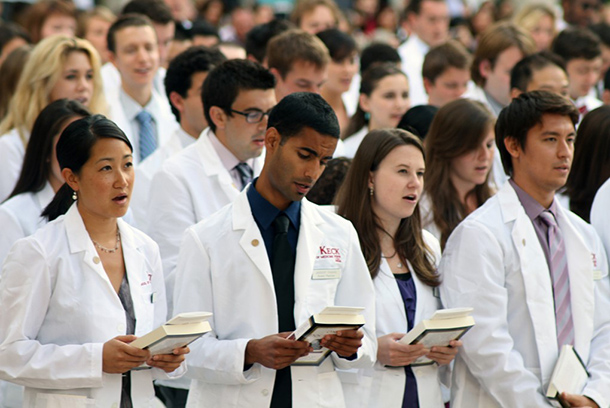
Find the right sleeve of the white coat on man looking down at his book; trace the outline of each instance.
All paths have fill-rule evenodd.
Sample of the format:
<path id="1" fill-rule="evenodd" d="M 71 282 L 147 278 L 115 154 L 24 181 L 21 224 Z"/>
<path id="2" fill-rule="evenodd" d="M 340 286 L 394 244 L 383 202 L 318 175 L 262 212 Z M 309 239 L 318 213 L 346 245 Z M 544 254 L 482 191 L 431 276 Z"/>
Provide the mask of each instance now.
<path id="1" fill-rule="evenodd" d="M 364 307 L 364 338 L 353 360 L 332 353 L 335 366 L 341 369 L 370 368 L 377 360 L 377 335 L 375 334 L 375 287 L 368 266 L 360 249 L 356 230 L 350 225 L 349 247 L 346 254 L 344 276 L 337 287 L 335 304 Z"/>

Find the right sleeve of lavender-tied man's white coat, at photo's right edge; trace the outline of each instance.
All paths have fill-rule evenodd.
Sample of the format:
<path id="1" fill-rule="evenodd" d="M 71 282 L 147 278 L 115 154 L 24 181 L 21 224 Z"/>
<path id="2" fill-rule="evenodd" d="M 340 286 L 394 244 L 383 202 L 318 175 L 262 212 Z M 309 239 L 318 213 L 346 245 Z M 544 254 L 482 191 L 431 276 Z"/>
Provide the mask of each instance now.
<path id="1" fill-rule="evenodd" d="M 595 314 L 593 317 L 593 338 L 587 369 L 591 374 L 583 395 L 591 398 L 600 407 L 610 406 L 610 278 L 608 258 L 599 237 L 596 238 L 595 253 L 601 271 L 601 279 L 595 282 Z"/>

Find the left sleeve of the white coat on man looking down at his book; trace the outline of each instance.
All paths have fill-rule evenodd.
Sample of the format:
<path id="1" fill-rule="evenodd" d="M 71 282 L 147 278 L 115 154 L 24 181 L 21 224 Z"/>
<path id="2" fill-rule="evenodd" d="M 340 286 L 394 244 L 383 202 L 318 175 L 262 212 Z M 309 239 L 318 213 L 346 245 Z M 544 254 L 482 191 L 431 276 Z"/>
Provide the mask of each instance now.
<path id="1" fill-rule="evenodd" d="M 197 234 L 189 228 L 180 247 L 174 290 L 176 313 L 207 311 L 214 313 L 214 292 L 210 259 Z M 250 339 L 219 340 L 212 331 L 190 345 L 187 355 L 188 377 L 216 384 L 247 384 L 260 377 L 260 365 L 244 371 L 246 345 Z"/>

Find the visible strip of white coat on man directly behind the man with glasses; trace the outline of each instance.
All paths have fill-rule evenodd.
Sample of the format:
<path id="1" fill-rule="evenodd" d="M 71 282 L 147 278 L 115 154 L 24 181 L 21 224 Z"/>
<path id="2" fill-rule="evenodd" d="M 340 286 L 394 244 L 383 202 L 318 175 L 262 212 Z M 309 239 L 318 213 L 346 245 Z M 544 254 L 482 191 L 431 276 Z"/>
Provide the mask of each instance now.
<path id="1" fill-rule="evenodd" d="M 135 225 L 142 231 L 148 226 L 148 202 L 150 198 L 150 185 L 154 175 L 161 169 L 165 160 L 180 150 L 195 142 L 195 138 L 179 127 L 163 146 L 159 146 L 150 156 L 135 168 L 135 183 L 131 193 L 129 208 L 133 212 Z"/>

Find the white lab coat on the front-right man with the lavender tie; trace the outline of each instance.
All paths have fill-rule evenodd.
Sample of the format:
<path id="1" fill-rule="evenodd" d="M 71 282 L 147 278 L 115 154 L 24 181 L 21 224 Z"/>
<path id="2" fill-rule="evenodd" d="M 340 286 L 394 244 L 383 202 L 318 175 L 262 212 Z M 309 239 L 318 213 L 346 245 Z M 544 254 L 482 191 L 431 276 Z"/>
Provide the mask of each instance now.
<path id="1" fill-rule="evenodd" d="M 591 373 L 584 395 L 610 404 L 608 261 L 593 228 L 558 205 L 568 256 L 574 346 Z M 455 359 L 451 407 L 543 407 L 558 357 L 553 287 L 544 252 L 506 183 L 453 231 L 443 257 L 445 307 L 474 308 Z"/>

